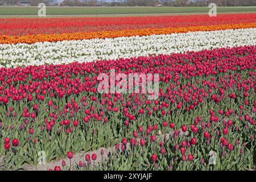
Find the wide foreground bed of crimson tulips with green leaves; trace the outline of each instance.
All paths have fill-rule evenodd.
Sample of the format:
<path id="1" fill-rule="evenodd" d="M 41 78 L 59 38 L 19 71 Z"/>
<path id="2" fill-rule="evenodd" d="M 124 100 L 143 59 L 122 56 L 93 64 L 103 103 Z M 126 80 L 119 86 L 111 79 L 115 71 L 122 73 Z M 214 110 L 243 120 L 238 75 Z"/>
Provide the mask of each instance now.
<path id="1" fill-rule="evenodd" d="M 97 76 L 110 69 L 158 73 L 158 99 L 98 93 Z M 49 161 L 122 142 L 102 169 L 251 169 L 255 69 L 256 46 L 0 68 L 0 154 L 17 169 L 36 164 L 39 151 Z"/>

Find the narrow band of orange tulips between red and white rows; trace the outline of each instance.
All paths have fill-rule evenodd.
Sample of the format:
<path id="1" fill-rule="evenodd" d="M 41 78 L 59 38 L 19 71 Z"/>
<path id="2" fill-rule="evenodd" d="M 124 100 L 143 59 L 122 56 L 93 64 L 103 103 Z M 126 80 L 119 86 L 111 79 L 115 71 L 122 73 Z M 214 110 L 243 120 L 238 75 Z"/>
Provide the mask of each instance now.
<path id="1" fill-rule="evenodd" d="M 239 24 L 221 24 L 210 26 L 188 26 L 188 27 L 168 27 L 168 28 L 146 28 L 136 30 L 120 30 L 120 31 L 99 31 L 99 32 L 74 32 L 63 34 L 37 34 L 24 36 L 9 36 L 1 35 L 0 44 L 18 44 L 27 43 L 32 44 L 36 42 L 57 42 L 63 40 L 82 40 L 82 39 L 104 39 L 104 38 L 118 38 L 129 36 L 147 36 L 147 35 L 162 35 L 185 33 L 194 31 L 216 31 L 240 28 L 256 28 L 256 23 L 239 23 Z"/>

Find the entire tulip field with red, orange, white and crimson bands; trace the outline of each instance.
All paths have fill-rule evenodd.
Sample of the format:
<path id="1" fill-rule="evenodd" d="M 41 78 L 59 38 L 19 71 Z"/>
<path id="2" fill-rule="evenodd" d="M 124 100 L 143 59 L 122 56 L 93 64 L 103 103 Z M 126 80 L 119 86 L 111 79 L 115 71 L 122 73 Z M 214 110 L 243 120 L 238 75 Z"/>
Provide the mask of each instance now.
<path id="1" fill-rule="evenodd" d="M 255 170 L 255 121 L 255 13 L 0 19 L 1 170 Z"/>

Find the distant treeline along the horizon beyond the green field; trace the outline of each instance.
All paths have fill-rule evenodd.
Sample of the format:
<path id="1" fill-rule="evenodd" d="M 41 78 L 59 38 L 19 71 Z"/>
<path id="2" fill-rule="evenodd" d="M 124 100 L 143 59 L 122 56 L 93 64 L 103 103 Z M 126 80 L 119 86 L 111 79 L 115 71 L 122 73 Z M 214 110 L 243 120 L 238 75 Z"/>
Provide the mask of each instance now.
<path id="1" fill-rule="evenodd" d="M 52 6 L 256 6 L 256 0 L 0 0 L 0 5 L 18 5 L 19 2 L 30 2 L 37 6 L 43 2 Z"/>

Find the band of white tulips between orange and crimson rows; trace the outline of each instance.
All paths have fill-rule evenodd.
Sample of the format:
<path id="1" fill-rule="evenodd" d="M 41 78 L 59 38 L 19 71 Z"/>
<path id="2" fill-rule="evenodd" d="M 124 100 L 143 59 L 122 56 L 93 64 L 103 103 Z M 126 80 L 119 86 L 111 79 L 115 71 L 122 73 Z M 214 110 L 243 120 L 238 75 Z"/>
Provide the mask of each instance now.
<path id="1" fill-rule="evenodd" d="M 0 44 L 0 67 L 63 64 L 255 45 L 256 28 L 129 38 Z"/>

